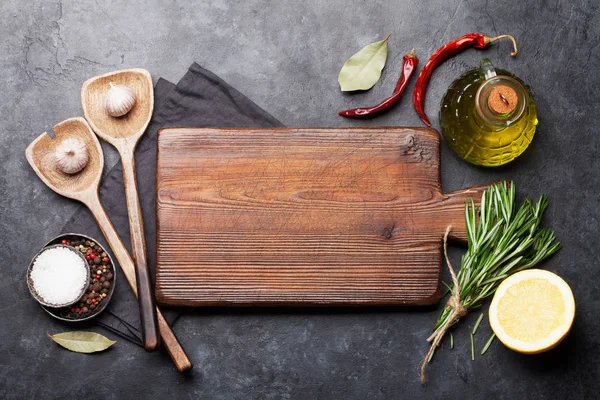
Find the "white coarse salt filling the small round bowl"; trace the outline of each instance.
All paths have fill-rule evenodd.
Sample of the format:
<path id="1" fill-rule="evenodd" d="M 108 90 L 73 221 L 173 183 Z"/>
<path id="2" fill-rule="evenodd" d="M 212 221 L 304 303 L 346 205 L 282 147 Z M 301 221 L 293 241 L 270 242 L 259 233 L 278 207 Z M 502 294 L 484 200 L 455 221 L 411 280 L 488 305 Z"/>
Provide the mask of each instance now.
<path id="1" fill-rule="evenodd" d="M 30 279 L 46 303 L 67 305 L 77 301 L 87 285 L 87 265 L 75 250 L 53 247 L 36 257 Z"/>

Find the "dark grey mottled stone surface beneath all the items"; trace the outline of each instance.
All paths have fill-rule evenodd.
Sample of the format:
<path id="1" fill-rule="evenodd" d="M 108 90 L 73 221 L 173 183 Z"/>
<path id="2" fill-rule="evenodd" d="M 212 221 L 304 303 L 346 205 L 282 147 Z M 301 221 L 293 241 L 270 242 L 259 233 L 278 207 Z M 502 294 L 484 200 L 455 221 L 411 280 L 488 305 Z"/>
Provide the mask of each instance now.
<path id="1" fill-rule="evenodd" d="M 18 1 L 0 2 L 0 398 L 597 398 L 600 384 L 600 10 L 568 1 Z M 426 110 L 487 56 L 531 85 L 540 125 L 515 163 L 480 169 L 442 145 L 445 191 L 498 179 L 519 195 L 547 193 L 546 223 L 564 249 L 545 267 L 570 283 L 573 331 L 538 356 L 495 342 L 470 360 L 469 330 L 454 330 L 418 367 L 439 307 L 408 310 L 198 310 L 175 332 L 195 364 L 176 372 L 164 353 L 119 340 L 96 355 L 64 351 L 46 333 L 68 330 L 30 298 L 24 271 L 78 205 L 50 192 L 25 161 L 37 135 L 81 114 L 79 89 L 96 74 L 144 67 L 176 82 L 193 62 L 221 76 L 288 126 L 348 126 L 336 111 L 376 103 L 395 84 L 402 54 L 422 63 L 463 33 L 513 34 L 520 45 L 469 50 L 433 76 Z M 371 91 L 342 94 L 337 74 L 363 45 L 391 33 L 387 68 Z M 414 84 L 414 83 L 413 83 Z M 409 86 L 409 91 L 412 85 Z M 366 125 L 420 125 L 405 98 Z M 106 165 L 116 161 L 104 146 Z M 127 239 L 127 238 L 125 238 Z M 127 239 L 128 240 L 128 239 Z M 458 263 L 460 249 L 454 249 Z M 99 328 L 96 330 L 111 336 Z M 476 335 L 481 349 L 486 320 Z"/>

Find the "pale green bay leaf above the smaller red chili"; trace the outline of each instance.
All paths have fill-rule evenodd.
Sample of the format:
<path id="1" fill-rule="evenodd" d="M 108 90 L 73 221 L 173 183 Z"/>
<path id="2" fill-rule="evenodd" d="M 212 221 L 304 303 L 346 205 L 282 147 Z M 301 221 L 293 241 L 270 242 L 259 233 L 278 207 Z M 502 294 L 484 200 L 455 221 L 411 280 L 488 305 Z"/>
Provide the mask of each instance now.
<path id="1" fill-rule="evenodd" d="M 371 89 L 381 78 L 387 61 L 387 42 L 390 35 L 379 42 L 360 49 L 342 66 L 338 83 L 343 92 Z"/>

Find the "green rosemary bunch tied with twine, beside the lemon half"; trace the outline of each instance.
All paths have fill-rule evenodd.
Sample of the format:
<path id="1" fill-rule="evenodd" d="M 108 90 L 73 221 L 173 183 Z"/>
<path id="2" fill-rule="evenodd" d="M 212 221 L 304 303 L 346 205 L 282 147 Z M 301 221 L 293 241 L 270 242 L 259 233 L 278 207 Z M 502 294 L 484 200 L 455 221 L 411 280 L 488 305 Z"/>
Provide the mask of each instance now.
<path id="1" fill-rule="evenodd" d="M 421 366 L 421 381 L 425 382 L 425 366 L 448 329 L 471 309 L 481 307 L 488 296 L 509 275 L 534 267 L 560 249 L 554 232 L 540 227 L 542 214 L 548 206 L 546 196 L 534 204 L 527 199 L 517 210 L 515 185 L 499 183 L 481 196 L 481 205 L 473 200 L 465 204 L 468 248 L 454 273 L 444 237 L 444 254 L 452 276 L 450 298 L 438 317 L 433 334 L 427 339 L 431 347 Z"/>

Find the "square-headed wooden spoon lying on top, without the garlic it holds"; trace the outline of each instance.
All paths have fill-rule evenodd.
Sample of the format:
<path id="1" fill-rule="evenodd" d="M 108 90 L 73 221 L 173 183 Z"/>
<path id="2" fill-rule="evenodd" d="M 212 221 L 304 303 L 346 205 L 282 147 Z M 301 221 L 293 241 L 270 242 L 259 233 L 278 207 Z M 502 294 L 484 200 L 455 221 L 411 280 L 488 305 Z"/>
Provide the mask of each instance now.
<path id="1" fill-rule="evenodd" d="M 126 115 L 111 117 L 104 107 L 104 95 L 110 83 L 126 85 L 133 90 L 136 102 Z M 112 144 L 121 155 L 123 181 L 129 213 L 131 247 L 136 265 L 136 277 L 140 301 L 140 319 L 144 347 L 148 351 L 159 346 L 156 325 L 156 302 L 152 290 L 152 280 L 146 257 L 144 223 L 135 180 L 135 147 L 144 134 L 154 109 L 154 88 L 152 77 L 144 69 L 129 69 L 111 72 L 86 81 L 81 88 L 83 113 L 88 123 L 100 138 Z"/>

